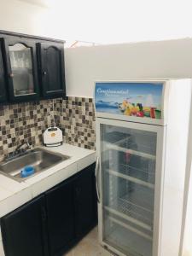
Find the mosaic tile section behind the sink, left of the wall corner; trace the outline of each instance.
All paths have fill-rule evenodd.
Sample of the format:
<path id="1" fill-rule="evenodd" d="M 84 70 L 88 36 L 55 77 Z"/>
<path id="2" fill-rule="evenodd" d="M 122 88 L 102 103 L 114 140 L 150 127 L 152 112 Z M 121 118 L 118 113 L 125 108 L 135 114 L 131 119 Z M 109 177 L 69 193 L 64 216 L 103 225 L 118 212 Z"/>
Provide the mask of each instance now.
<path id="1" fill-rule="evenodd" d="M 52 100 L 0 106 L 0 158 L 26 141 L 39 145 L 42 132 L 53 124 Z"/>

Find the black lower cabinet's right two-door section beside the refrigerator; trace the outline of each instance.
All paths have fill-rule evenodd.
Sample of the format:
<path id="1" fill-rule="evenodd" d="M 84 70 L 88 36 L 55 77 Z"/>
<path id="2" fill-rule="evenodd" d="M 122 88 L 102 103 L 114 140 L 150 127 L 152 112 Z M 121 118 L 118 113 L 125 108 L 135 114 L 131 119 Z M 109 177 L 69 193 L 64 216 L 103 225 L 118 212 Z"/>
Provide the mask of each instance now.
<path id="1" fill-rule="evenodd" d="M 50 256 L 61 256 L 96 225 L 95 164 L 45 193 Z"/>

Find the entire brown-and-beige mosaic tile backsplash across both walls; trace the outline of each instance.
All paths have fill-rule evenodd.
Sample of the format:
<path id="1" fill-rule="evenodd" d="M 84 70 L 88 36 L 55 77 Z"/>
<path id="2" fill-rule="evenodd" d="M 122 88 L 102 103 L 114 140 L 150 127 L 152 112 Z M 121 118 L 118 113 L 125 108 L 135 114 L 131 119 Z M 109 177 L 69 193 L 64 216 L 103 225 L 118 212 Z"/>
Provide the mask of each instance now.
<path id="1" fill-rule="evenodd" d="M 90 98 L 68 97 L 0 106 L 0 159 L 24 142 L 39 145 L 44 130 L 57 125 L 64 142 L 95 148 L 95 113 Z"/>

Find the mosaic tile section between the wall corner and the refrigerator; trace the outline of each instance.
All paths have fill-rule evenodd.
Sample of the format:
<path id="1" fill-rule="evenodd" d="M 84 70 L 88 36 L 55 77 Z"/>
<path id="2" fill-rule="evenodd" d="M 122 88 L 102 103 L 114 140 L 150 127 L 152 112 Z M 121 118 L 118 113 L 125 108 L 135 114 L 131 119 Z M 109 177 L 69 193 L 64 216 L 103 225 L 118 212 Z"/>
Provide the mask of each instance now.
<path id="1" fill-rule="evenodd" d="M 68 97 L 54 102 L 55 124 L 65 131 L 64 141 L 82 148 L 95 149 L 96 122 L 91 98 Z"/>

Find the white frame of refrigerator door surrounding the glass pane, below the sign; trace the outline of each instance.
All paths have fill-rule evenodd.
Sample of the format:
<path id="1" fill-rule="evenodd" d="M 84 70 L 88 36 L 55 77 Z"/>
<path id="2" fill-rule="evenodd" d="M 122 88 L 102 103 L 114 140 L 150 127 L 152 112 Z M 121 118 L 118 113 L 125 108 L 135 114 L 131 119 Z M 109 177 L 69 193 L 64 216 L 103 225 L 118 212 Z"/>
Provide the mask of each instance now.
<path id="1" fill-rule="evenodd" d="M 155 165 L 155 183 L 154 183 L 154 230 L 153 230 L 153 256 L 158 256 L 160 253 L 160 229 L 161 229 L 161 218 L 162 218 L 162 195 L 163 195 L 163 179 L 164 179 L 164 158 L 165 158 L 165 137 L 166 137 L 166 126 L 159 125 L 148 125 L 141 123 L 134 123 L 130 121 L 117 120 L 117 119 L 96 119 L 96 137 L 101 138 L 100 125 L 113 125 L 131 129 L 137 129 L 141 131 L 153 131 L 157 133 L 156 143 L 156 165 Z M 98 158 L 98 194 L 100 195 L 100 202 L 98 203 L 98 229 L 99 229 L 99 241 L 103 247 L 107 247 L 108 250 L 118 255 L 124 256 L 124 253 L 119 252 L 115 247 L 108 245 L 103 241 L 103 209 L 102 209 L 102 168 L 101 168 L 101 141 L 96 140 L 96 152 Z"/>

